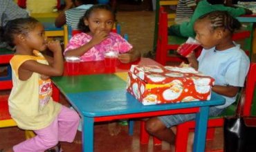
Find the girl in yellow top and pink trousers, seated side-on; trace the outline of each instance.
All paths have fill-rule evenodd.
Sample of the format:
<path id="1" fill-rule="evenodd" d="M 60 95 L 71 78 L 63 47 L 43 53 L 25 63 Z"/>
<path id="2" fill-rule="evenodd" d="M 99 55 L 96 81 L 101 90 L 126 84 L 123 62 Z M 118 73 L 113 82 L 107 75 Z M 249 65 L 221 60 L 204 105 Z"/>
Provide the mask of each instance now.
<path id="1" fill-rule="evenodd" d="M 8 100 L 10 115 L 20 129 L 37 134 L 6 151 L 45 151 L 59 141 L 73 142 L 80 117 L 70 108 L 53 102 L 51 97 L 49 76 L 63 73 L 60 42 L 47 42 L 44 26 L 33 18 L 9 21 L 3 35 L 9 44 L 16 46 L 10 60 L 13 84 Z M 53 57 L 40 53 L 46 48 L 53 52 Z"/>

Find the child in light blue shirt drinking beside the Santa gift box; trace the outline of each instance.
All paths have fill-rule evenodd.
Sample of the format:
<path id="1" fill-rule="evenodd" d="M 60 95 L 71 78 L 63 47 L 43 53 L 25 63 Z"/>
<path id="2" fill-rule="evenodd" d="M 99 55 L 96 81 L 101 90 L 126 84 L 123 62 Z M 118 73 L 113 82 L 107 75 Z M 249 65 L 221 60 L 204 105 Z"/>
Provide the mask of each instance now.
<path id="1" fill-rule="evenodd" d="M 232 33 L 240 26 L 237 19 L 223 11 L 203 15 L 194 24 L 196 40 L 203 50 L 198 59 L 194 53 L 188 55 L 188 61 L 192 67 L 213 77 L 212 91 L 226 98 L 226 104 L 210 108 L 209 116 L 219 115 L 235 102 L 239 88 L 244 86 L 250 61 L 240 46 L 232 41 Z M 175 126 L 194 118 L 195 114 L 154 117 L 147 120 L 146 129 L 160 140 L 174 144 Z M 192 151 L 190 144 L 188 151 Z"/>

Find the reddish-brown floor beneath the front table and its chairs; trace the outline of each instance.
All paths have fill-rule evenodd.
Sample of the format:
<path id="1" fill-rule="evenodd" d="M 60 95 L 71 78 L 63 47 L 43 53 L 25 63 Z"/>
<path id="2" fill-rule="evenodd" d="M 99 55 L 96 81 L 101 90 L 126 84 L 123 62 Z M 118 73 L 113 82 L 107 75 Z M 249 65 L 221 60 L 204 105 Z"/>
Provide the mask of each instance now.
<path id="1" fill-rule="evenodd" d="M 61 97 L 62 104 L 68 106 L 68 102 L 64 97 Z M 139 121 L 135 122 L 134 135 L 128 135 L 128 126 L 121 126 L 121 132 L 116 136 L 109 135 L 107 123 L 95 124 L 94 133 L 94 151 L 95 152 L 164 152 L 170 151 L 170 145 L 163 142 L 162 146 L 153 146 L 152 137 L 149 139 L 149 144 L 140 144 L 140 126 Z M 221 149 L 222 147 L 222 131 L 217 129 L 215 139 L 208 141 L 206 149 Z M 24 131 L 17 127 L 0 129 L 0 149 L 3 147 L 13 146 L 22 142 L 24 139 Z M 75 142 L 62 142 L 62 149 L 65 152 L 82 151 L 81 133 L 77 131 Z"/>

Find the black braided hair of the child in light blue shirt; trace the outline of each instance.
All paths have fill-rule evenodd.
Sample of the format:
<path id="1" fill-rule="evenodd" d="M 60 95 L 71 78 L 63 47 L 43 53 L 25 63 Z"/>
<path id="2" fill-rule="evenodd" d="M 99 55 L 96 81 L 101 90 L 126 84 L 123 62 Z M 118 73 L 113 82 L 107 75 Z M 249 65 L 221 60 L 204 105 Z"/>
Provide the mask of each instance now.
<path id="1" fill-rule="evenodd" d="M 214 11 L 209 12 L 205 15 L 199 17 L 200 19 L 210 19 L 211 27 L 213 30 L 217 28 L 224 28 L 224 30 L 229 30 L 233 33 L 235 30 L 239 30 L 241 28 L 241 23 L 228 14 L 227 11 Z"/>

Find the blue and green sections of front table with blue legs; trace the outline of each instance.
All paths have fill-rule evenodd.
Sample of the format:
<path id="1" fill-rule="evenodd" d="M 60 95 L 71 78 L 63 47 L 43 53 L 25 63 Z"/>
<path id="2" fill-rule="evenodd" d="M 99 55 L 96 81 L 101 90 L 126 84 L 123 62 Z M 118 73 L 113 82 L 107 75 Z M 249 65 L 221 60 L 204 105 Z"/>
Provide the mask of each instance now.
<path id="1" fill-rule="evenodd" d="M 82 117 L 82 149 L 93 151 L 94 122 L 175 113 L 196 113 L 194 151 L 205 149 L 205 134 L 210 106 L 224 104 L 225 99 L 212 93 L 209 101 L 143 106 L 127 91 L 119 74 L 54 77 L 53 82 Z"/>

